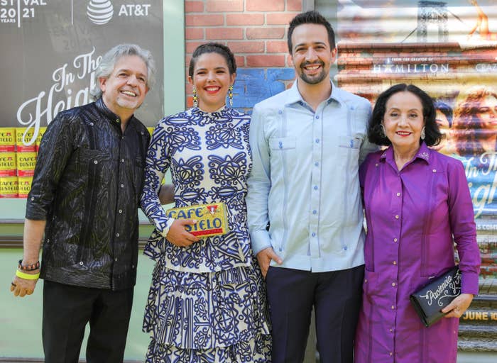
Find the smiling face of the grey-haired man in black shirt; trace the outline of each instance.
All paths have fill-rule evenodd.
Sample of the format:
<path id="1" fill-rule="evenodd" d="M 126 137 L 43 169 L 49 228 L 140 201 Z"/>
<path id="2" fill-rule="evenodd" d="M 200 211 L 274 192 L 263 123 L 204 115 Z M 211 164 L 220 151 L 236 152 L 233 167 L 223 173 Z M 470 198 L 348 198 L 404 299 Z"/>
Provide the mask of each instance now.
<path id="1" fill-rule="evenodd" d="M 99 83 L 104 104 L 126 121 L 148 92 L 147 66 L 141 57 L 125 55 L 117 60 L 109 78 L 99 78 Z"/>

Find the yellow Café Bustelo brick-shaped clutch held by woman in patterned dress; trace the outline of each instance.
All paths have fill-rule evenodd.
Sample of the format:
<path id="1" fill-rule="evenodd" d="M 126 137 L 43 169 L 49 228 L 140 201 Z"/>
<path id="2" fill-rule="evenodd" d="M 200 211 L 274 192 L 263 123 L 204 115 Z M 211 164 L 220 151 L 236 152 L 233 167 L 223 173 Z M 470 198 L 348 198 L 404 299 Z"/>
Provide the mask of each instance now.
<path id="1" fill-rule="evenodd" d="M 226 206 L 224 203 L 200 204 L 171 208 L 165 213 L 175 219 L 195 219 L 197 223 L 186 225 L 185 230 L 198 237 L 224 235 L 228 232 Z"/>

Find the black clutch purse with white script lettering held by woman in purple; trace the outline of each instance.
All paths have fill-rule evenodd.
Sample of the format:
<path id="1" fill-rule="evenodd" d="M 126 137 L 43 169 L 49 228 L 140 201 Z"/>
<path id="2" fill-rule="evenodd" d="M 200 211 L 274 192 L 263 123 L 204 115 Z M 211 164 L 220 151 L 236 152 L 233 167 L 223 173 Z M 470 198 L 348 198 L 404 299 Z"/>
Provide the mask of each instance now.
<path id="1" fill-rule="evenodd" d="M 429 327 L 447 315 L 447 313 L 442 313 L 442 308 L 449 305 L 459 294 L 461 294 L 461 272 L 456 266 L 432 279 L 429 284 L 409 298 L 422 323 Z"/>

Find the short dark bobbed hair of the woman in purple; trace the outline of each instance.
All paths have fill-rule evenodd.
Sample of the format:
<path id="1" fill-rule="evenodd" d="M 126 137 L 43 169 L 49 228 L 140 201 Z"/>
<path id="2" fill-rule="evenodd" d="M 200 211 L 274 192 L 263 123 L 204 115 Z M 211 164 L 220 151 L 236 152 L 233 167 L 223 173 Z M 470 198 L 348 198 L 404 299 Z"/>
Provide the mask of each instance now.
<path id="1" fill-rule="evenodd" d="M 408 91 L 417 96 L 421 101 L 423 119 L 425 121 L 425 143 L 428 146 L 438 145 L 442 139 L 442 134 L 438 129 L 437 122 L 435 121 L 436 111 L 433 100 L 428 94 L 415 86 L 414 84 L 395 84 L 386 91 L 383 91 L 376 99 L 376 104 L 373 108 L 371 120 L 368 125 L 368 139 L 371 143 L 376 145 L 391 145 L 381 128 L 383 116 L 386 112 L 386 103 L 394 94 L 398 92 Z M 421 143 L 421 140 L 420 140 Z"/>

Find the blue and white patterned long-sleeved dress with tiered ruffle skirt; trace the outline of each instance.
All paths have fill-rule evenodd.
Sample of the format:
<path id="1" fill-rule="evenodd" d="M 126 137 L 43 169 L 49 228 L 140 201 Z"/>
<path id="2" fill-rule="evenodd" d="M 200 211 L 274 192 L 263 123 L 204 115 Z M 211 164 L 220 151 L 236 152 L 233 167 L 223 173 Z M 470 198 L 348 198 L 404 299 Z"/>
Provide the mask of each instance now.
<path id="1" fill-rule="evenodd" d="M 155 127 L 141 197 L 155 225 L 144 252 L 156 261 L 143 319 L 146 362 L 271 362 L 266 291 L 246 227 L 249 123 L 232 108 L 190 108 Z M 226 235 L 189 247 L 165 239 L 173 220 L 158 189 L 167 169 L 175 206 L 226 204 Z"/>

